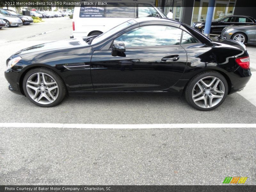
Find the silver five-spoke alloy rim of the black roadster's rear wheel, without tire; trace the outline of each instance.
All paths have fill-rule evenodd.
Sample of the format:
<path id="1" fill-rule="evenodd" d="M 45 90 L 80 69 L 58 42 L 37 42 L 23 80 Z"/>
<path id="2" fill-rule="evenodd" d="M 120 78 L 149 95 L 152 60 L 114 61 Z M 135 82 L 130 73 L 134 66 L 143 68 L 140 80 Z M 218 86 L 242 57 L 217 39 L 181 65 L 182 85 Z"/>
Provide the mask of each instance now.
<path id="1" fill-rule="evenodd" d="M 200 79 L 194 86 L 192 98 L 201 108 L 211 108 L 220 103 L 225 93 L 223 82 L 213 76 Z"/>

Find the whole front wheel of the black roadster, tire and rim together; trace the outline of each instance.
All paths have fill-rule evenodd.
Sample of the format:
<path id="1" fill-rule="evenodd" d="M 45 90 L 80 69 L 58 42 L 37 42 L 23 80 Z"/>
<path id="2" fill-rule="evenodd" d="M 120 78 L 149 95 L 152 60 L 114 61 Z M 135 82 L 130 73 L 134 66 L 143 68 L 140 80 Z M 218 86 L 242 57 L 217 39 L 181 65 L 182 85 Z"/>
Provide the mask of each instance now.
<path id="1" fill-rule="evenodd" d="M 58 105 L 66 95 L 66 86 L 60 76 L 47 68 L 28 71 L 23 79 L 23 90 L 28 99 L 40 107 Z"/>

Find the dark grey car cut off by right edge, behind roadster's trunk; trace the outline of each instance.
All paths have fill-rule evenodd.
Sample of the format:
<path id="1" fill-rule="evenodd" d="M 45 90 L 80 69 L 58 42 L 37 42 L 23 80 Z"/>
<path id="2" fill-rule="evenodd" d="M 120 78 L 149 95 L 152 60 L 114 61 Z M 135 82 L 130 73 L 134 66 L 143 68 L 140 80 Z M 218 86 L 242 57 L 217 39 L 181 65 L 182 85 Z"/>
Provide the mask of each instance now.
<path id="1" fill-rule="evenodd" d="M 229 26 L 222 30 L 221 39 L 232 39 L 241 43 L 256 44 L 256 26 Z"/>

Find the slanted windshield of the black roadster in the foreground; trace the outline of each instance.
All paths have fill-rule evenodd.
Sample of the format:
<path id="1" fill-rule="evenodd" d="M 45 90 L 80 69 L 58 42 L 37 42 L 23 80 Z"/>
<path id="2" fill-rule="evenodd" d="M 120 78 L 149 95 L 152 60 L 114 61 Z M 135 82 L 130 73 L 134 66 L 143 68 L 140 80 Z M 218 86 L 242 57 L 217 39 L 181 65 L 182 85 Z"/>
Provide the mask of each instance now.
<path id="1" fill-rule="evenodd" d="M 91 44 L 99 43 L 99 42 L 103 41 L 104 39 L 108 38 L 109 36 L 114 35 L 118 31 L 125 29 L 127 26 L 134 24 L 135 22 L 136 21 L 134 21 L 134 20 L 130 20 L 129 23 L 126 21 L 120 25 L 117 25 L 116 27 L 108 30 L 107 32 L 102 33 L 100 36 L 97 36 L 95 39 L 92 40 Z"/>

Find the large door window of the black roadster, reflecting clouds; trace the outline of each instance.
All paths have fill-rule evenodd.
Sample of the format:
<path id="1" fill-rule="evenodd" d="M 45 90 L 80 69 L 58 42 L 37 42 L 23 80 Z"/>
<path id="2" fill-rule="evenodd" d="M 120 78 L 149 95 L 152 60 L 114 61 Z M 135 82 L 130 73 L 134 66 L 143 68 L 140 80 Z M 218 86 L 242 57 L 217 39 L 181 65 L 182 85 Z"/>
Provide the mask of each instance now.
<path id="1" fill-rule="evenodd" d="M 123 41 L 126 47 L 179 45 L 181 29 L 164 26 L 143 26 L 124 33 L 115 41 Z"/>

